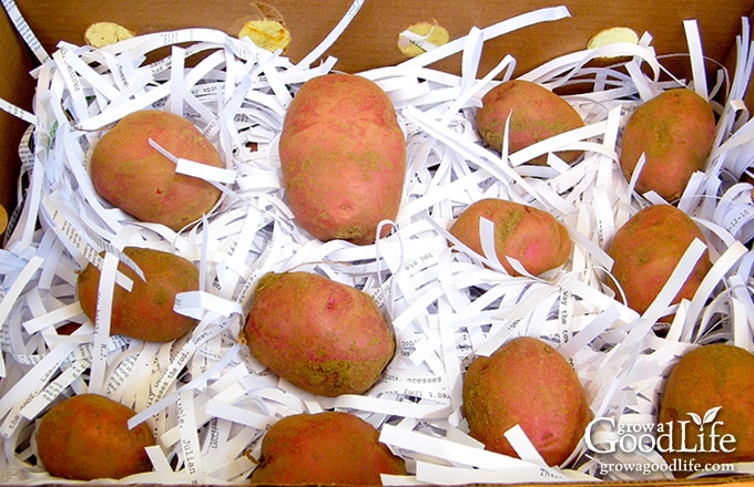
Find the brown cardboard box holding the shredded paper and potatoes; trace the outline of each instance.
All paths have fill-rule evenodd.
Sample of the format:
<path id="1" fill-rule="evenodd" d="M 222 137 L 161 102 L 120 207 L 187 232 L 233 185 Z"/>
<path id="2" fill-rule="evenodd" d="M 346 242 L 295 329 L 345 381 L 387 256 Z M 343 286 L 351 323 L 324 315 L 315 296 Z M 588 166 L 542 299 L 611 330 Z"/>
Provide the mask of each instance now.
<path id="1" fill-rule="evenodd" d="M 304 59 L 325 40 L 333 28 L 342 21 L 346 11 L 351 8 L 351 3 L 347 0 L 322 2 L 275 0 L 268 3 L 279 12 L 292 34 L 293 41 L 285 55 L 294 63 Z M 41 49 L 47 53 L 54 52 L 58 49 L 59 41 L 77 45 L 82 44 L 83 32 L 90 24 L 98 21 L 116 22 L 134 31 L 137 35 L 186 28 L 210 28 L 234 35 L 240 22 L 252 10 L 247 2 L 235 0 L 191 3 L 133 0 L 128 4 L 110 1 L 18 0 L 17 6 L 18 12 L 22 15 L 29 29 L 24 30 L 22 34 L 33 33 L 39 40 Z M 728 69 L 735 66 L 736 37 L 741 34 L 742 18 L 751 19 L 754 14 L 754 0 L 727 0 L 724 2 L 716 0 L 687 2 L 634 0 L 619 3 L 604 2 L 603 0 L 567 0 L 558 3 L 544 0 L 507 2 L 486 0 L 466 2 L 367 0 L 347 29 L 327 48 L 318 61 L 325 60 L 327 56 L 337 58 L 335 69 L 351 73 L 391 66 L 407 60 L 407 56 L 397 46 L 398 35 L 417 22 L 436 22 L 448 30 L 450 40 L 455 40 L 469 34 L 475 27 L 481 29 L 527 12 L 559 6 L 564 6 L 569 15 L 553 21 L 537 22 L 485 42 L 481 59 L 478 62 L 478 73 L 480 75 L 488 73 L 506 54 L 512 55 L 516 60 L 513 76 L 528 73 L 550 60 L 584 50 L 594 34 L 612 27 L 628 27 L 639 34 L 649 32 L 652 35 L 651 45 L 658 54 L 683 54 L 689 51 L 683 22 L 694 19 L 703 41 L 704 55 L 710 60 L 705 64 L 706 73 L 712 76 L 720 65 L 725 65 Z M 16 15 L 12 8 L 10 12 L 11 17 Z M 16 19 L 18 20 L 18 18 Z M 33 112 L 33 97 L 35 94 L 39 95 L 39 91 L 35 80 L 29 73 L 39 65 L 39 60 L 22 40 L 22 37 L 19 35 L 17 25 L 13 24 L 9 15 L 0 15 L 0 52 L 3 53 L 4 60 L 3 70 L 0 70 L 0 99 L 23 111 Z M 150 55 L 159 58 L 166 55 L 166 51 L 151 53 Z M 693 76 L 687 58 L 665 59 L 663 64 L 681 77 Z M 445 58 L 432 63 L 430 68 L 447 73 L 462 74 L 461 54 L 457 53 Z M 750 99 L 751 93 L 747 93 L 746 102 L 748 106 L 754 106 Z M 18 156 L 19 141 L 28 126 L 29 124 L 19 117 L 0 112 L 0 154 L 2 154 L 0 159 L 0 204 L 6 208 L 14 208 L 18 201 L 19 183 L 21 187 L 28 184 L 28 180 L 19 182 L 21 162 Z M 748 245 L 751 246 L 751 244 Z M 743 253 L 744 250 L 741 250 L 741 252 Z M 195 257 L 196 259 L 200 258 L 198 256 Z M 747 309 L 744 312 L 747 312 Z M 155 355 L 155 361 L 157 359 Z M 164 358 L 162 359 L 164 360 Z M 8 381 L 8 379 L 3 379 L 3 381 Z M 8 388 L 8 385 L 6 385 L 6 391 Z M 182 400 L 185 398 L 182 397 Z M 214 406 L 220 407 L 218 404 L 214 404 Z M 231 413 L 224 412 L 223 414 Z M 175 431 L 172 433 L 173 436 L 177 434 Z M 397 431 L 393 431 L 393 433 L 398 434 Z M 255 438 L 255 441 L 258 439 L 258 437 Z M 396 439 L 396 443 L 399 442 Z M 181 460 L 173 458 L 173 462 L 180 463 Z M 166 466 L 162 465 L 161 467 L 165 468 Z M 12 473 L 8 475 L 8 478 L 12 478 Z M 4 477 L 0 475 L 0 479 Z M 195 479 L 191 476 L 185 478 L 186 483 Z M 212 479 L 213 477 L 208 478 Z M 441 477 L 434 478 L 436 479 L 435 484 L 442 484 L 441 480 L 438 480 Z M 584 477 L 575 476 L 574 478 L 575 484 L 587 484 Z M 33 478 L 30 478 L 30 480 L 33 480 Z M 635 481 L 636 479 L 632 480 Z M 146 483 L 150 481 L 153 481 L 153 479 L 146 480 Z M 449 484 L 455 483 L 452 479 L 447 481 Z M 531 479 L 514 481 L 529 484 Z M 614 479 L 611 481 L 614 481 Z M 728 476 L 699 480 L 652 479 L 651 483 L 750 485 L 754 480 L 747 477 Z"/>

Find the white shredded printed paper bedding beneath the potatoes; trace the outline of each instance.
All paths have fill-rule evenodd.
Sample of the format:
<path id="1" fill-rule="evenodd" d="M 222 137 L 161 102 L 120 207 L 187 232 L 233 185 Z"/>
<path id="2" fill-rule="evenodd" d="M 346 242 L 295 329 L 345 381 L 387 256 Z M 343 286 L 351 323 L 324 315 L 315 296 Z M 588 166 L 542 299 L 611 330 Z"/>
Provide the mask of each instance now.
<path id="1" fill-rule="evenodd" d="M 618 167 L 621 129 L 628 114 L 662 90 L 693 84 L 704 91 L 702 74 L 695 70 L 693 83 L 660 81 L 664 68 L 649 34 L 636 44 L 553 59 L 520 77 L 553 90 L 589 86 L 566 97 L 584 127 L 516 153 L 506 145 L 498 153 L 482 144 L 473 114 L 497 80 L 513 75 L 516 60 L 502 54 L 490 72 L 479 73 L 483 43 L 563 19 L 570 15 L 564 7 L 475 28 L 399 65 L 358 73 L 386 91 L 406 134 L 404 200 L 395 220 L 384 222 L 393 231 L 375 245 L 322 242 L 297 226 L 287 206 L 278 136 L 297 89 L 337 69 L 332 58 L 315 64 L 361 4 L 354 2 L 330 35 L 296 64 L 279 51 L 210 29 L 136 35 L 101 49 L 60 43 L 43 59 L 33 73 L 33 114 L 17 114 L 34 125 L 32 148 L 22 153 L 29 188 L 0 250 L 0 434 L 6 445 L 0 480 L 58 481 L 32 465 L 33 426 L 49 405 L 85 392 L 134 408 L 130 425 L 147 423 L 160 439 L 147 448 L 152 472 L 123 483 L 246 484 L 255 468 L 249 457 L 258 458 L 272 424 L 326 410 L 369 422 L 407 460 L 408 475 L 384 476 L 388 485 L 668 476 L 655 470 L 655 477 L 631 477 L 601 468 L 620 462 L 659 465 L 659 454 L 600 454 L 584 445 L 573 452 L 569 468 L 543 466 L 520 427 L 509 435 L 524 459 L 488 452 L 468 435 L 462 381 L 475 358 L 512 338 L 538 336 L 577 371 L 595 416 L 652 423 L 664 374 L 685 351 L 711 341 L 753 349 L 754 204 L 752 185 L 738 180 L 754 139 L 741 101 L 754 62 L 747 21 L 735 90 L 721 105 L 715 149 L 677 203 L 703 229 L 709 246 L 695 241 L 689 248 L 661 296 L 640 315 L 607 287 L 612 259 L 605 248 L 639 209 L 666 201 L 635 194 L 625 180 Z M 697 66 L 699 30 L 689 22 L 685 32 Z M 156 52 L 169 54 L 145 64 Z M 186 62 L 197 53 L 201 61 Z M 462 56 L 460 75 L 427 68 L 456 53 Z M 607 56 L 625 61 L 590 65 Z M 88 175 L 91 151 L 110 124 L 145 107 L 190 118 L 226 163 L 215 169 L 174 158 L 181 173 L 223 191 L 208 215 L 182 231 L 110 207 Z M 569 165 L 553 154 L 563 148 L 583 156 Z M 548 154 L 547 166 L 531 165 L 541 154 Z M 492 251 L 491 221 L 481 225 L 483 255 L 475 255 L 448 228 L 482 198 L 550 211 L 569 231 L 570 260 L 541 276 L 521 269 L 522 277 L 511 277 Z M 196 320 L 190 334 L 167 343 L 111 336 L 108 299 L 94 322 L 83 315 L 78 272 L 96 261 L 103 296 L 114 286 L 128 287 L 115 266 L 125 260 L 119 249 L 126 246 L 173 252 L 197 266 L 196 291 L 179 294 L 173 303 L 176 312 Z M 692 300 L 671 305 L 704 248 L 712 271 Z M 257 282 L 269 271 L 292 269 L 360 289 L 389 318 L 397 352 L 367 393 L 322 397 L 303 392 L 272 374 L 244 345 L 241 330 Z M 666 317 L 672 322 L 663 336 L 653 328 Z M 69 324 L 77 328 L 70 334 Z M 597 429 L 591 439 L 599 447 L 614 439 L 611 434 Z"/>

